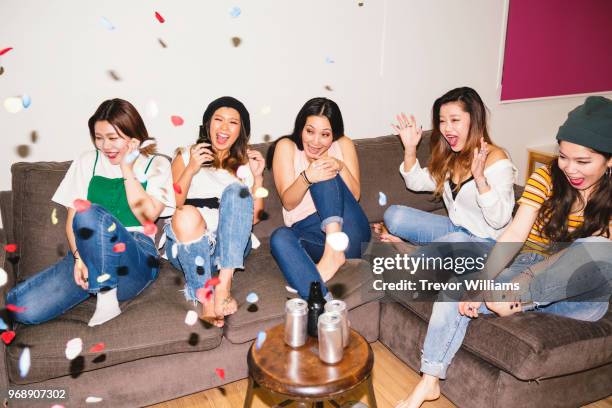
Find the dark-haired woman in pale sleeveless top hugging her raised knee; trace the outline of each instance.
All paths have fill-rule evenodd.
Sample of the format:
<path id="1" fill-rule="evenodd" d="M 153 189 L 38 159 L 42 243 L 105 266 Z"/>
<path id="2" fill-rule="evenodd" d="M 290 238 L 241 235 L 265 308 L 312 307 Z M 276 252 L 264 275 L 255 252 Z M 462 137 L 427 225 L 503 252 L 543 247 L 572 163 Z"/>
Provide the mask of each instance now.
<path id="1" fill-rule="evenodd" d="M 272 255 L 300 296 L 308 297 L 310 283 L 318 281 L 329 298 L 324 283 L 347 257 L 359 258 L 361 244 L 370 240 L 368 219 L 357 202 L 357 153 L 334 101 L 306 102 L 293 133 L 276 142 L 272 170 L 286 225 L 270 238 Z"/>

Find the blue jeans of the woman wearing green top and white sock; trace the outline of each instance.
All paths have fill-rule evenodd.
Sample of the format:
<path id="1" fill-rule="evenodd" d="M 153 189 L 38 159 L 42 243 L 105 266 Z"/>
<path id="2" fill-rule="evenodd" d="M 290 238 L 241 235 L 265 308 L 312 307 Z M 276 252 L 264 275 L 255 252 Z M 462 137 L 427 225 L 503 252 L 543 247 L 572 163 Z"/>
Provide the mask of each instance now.
<path id="1" fill-rule="evenodd" d="M 108 228 L 115 223 L 112 232 Z M 136 297 L 157 278 L 159 261 L 153 240 L 140 232 L 130 232 L 103 207 L 93 204 L 77 212 L 72 222 L 81 260 L 87 266 L 88 290 L 74 281 L 74 257 L 64 258 L 31 278 L 19 283 L 7 294 L 7 303 L 25 307 L 15 313 L 15 320 L 39 324 L 51 320 L 103 288 L 117 288 L 117 298 L 125 301 Z M 113 246 L 125 243 L 125 251 L 116 253 Z M 102 283 L 98 277 L 107 273 Z"/>

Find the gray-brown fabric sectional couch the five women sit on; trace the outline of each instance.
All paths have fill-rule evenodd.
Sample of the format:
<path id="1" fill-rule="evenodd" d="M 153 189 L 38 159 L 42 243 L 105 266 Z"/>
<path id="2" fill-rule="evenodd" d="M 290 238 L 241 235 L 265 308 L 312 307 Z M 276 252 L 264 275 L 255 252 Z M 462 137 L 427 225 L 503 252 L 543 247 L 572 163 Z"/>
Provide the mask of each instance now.
<path id="1" fill-rule="evenodd" d="M 428 134 L 418 156 L 428 160 Z M 384 192 L 390 204 L 425 211 L 443 211 L 430 194 L 407 191 L 398 172 L 400 142 L 393 136 L 356 140 L 361 165 L 361 204 L 371 222 L 382 220 L 386 206 L 378 204 Z M 267 144 L 255 146 L 264 154 Z M 0 254 L 9 282 L 0 288 L 2 317 L 6 291 L 16 281 L 51 265 L 67 251 L 66 211 L 50 198 L 69 162 L 16 163 L 12 191 L 0 193 L 4 242 L 19 245 L 16 254 Z M 135 407 L 174 399 L 247 376 L 246 353 L 257 333 L 283 320 L 283 305 L 295 296 L 286 291 L 282 274 L 270 255 L 268 238 L 282 225 L 281 205 L 270 172 L 267 219 L 255 226 L 262 242 L 253 250 L 245 271 L 235 275 L 233 294 L 238 312 L 223 329 L 203 323 L 187 326 L 185 314 L 193 305 L 179 291 L 182 273 L 161 261 L 159 278 L 139 297 L 121 305 L 123 313 L 96 328 L 87 321 L 94 309 L 90 299 L 53 321 L 38 326 L 16 325 L 17 336 L 0 344 L 0 389 L 68 388 L 66 406 L 84 406 L 88 396 L 103 398 L 96 406 Z M 59 222 L 51 222 L 57 209 Z M 10 256 L 7 256 L 10 255 Z M 418 370 L 420 349 L 431 303 L 415 303 L 397 294 L 372 289 L 369 264 L 351 260 L 330 282 L 336 297 L 350 308 L 353 328 L 368 341 L 380 340 L 409 366 Z M 249 292 L 259 302 L 245 302 Z M 83 353 L 69 361 L 66 342 L 83 339 Z M 104 342 L 103 353 L 89 348 Z M 18 361 L 23 347 L 31 349 L 32 364 L 21 378 Z M 223 368 L 219 378 L 215 368 Z M 612 392 L 612 314 L 596 323 L 555 316 L 480 318 L 470 325 L 464 346 L 443 382 L 443 393 L 462 407 L 572 407 L 598 400 Z M 408 392 L 409 390 L 406 390 Z M 11 406 L 37 406 L 11 401 Z M 40 406 L 49 406 L 48 402 Z"/>

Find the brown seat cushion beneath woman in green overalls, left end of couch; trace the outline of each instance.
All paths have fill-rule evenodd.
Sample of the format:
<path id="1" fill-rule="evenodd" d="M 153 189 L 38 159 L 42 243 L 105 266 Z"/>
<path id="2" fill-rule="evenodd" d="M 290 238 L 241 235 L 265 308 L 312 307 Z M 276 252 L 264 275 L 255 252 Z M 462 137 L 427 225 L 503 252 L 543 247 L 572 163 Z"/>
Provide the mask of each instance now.
<path id="1" fill-rule="evenodd" d="M 25 384 L 69 374 L 75 377 L 126 361 L 217 347 L 221 343 L 220 329 L 199 320 L 194 326 L 185 324 L 185 315 L 194 306 L 180 292 L 183 285 L 183 274 L 163 261 L 157 280 L 135 299 L 123 302 L 122 314 L 101 326 L 87 326 L 95 309 L 93 297 L 47 323 L 19 325 L 17 337 L 7 348 L 11 380 Z M 83 340 L 83 352 L 69 361 L 66 342 L 75 337 Z M 104 342 L 106 349 L 89 352 L 99 342 Z M 30 347 L 32 364 L 22 379 L 19 356 L 25 345 Z"/>

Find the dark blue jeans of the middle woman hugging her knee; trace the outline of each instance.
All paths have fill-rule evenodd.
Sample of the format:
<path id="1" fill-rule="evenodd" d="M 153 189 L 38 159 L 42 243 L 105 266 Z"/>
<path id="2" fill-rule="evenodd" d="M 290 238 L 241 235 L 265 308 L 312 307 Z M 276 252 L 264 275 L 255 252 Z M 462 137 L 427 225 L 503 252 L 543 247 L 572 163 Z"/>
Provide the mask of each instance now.
<path id="1" fill-rule="evenodd" d="M 313 184 L 310 194 L 317 212 L 291 227 L 276 229 L 270 237 L 272 256 L 289 285 L 303 298 L 308 298 L 314 281 L 321 282 L 323 295 L 327 294 L 316 266 L 325 250 L 327 224 L 339 222 L 348 235 L 349 245 L 344 251 L 347 258 L 360 258 L 361 245 L 371 236 L 368 218 L 339 175 Z"/>

